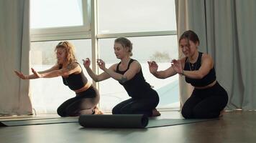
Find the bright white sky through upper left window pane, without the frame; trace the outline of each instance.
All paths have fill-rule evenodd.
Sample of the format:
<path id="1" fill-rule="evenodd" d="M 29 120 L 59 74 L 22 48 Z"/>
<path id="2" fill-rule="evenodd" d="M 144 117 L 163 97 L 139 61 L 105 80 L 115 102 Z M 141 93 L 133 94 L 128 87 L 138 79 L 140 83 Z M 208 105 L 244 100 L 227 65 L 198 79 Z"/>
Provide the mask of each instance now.
<path id="1" fill-rule="evenodd" d="M 32 29 L 83 25 L 81 0 L 32 0 L 30 4 Z"/>

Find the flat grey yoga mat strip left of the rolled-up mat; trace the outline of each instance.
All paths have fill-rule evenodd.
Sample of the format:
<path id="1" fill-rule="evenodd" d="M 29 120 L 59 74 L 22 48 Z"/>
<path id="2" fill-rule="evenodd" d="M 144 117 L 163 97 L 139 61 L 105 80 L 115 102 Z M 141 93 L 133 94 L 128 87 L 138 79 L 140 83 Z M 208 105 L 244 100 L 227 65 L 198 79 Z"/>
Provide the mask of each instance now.
<path id="1" fill-rule="evenodd" d="M 12 126 L 26 126 L 36 124 L 60 124 L 60 123 L 72 123 L 78 122 L 78 118 L 52 118 L 52 119 L 24 119 L 14 121 L 1 121 L 0 127 L 12 127 Z"/>

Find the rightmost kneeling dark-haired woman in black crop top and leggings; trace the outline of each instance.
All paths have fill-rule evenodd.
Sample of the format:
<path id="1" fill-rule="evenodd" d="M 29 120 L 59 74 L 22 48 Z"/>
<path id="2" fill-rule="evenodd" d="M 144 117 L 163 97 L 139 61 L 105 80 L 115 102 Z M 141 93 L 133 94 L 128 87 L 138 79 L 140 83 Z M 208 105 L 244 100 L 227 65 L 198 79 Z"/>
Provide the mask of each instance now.
<path id="1" fill-rule="evenodd" d="M 185 31 L 179 39 L 180 49 L 186 57 L 173 59 L 172 65 L 164 71 L 157 71 L 155 61 L 148 61 L 150 73 L 160 79 L 175 74 L 185 76 L 194 89 L 183 105 L 181 114 L 186 119 L 215 118 L 226 107 L 227 92 L 216 81 L 214 61 L 209 54 L 198 51 L 199 39 L 195 32 Z"/>

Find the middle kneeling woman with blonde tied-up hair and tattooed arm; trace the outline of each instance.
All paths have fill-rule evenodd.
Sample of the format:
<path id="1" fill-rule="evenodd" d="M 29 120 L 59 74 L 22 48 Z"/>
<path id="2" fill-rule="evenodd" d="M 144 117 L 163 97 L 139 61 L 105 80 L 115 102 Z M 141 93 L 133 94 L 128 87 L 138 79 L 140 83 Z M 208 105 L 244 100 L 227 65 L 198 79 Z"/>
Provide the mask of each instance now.
<path id="1" fill-rule="evenodd" d="M 130 99 L 121 102 L 112 109 L 112 114 L 146 114 L 149 117 L 159 116 L 155 107 L 159 102 L 157 92 L 150 87 L 150 84 L 145 82 L 142 74 L 140 63 L 132 56 L 132 43 L 129 39 L 120 37 L 114 41 L 114 54 L 121 61 L 113 64 L 106 69 L 102 59 L 98 59 L 99 68 L 104 72 L 96 75 L 90 69 L 91 61 L 87 58 L 83 61 L 83 65 L 90 77 L 95 82 L 100 82 L 110 77 L 116 79 L 129 94 Z"/>

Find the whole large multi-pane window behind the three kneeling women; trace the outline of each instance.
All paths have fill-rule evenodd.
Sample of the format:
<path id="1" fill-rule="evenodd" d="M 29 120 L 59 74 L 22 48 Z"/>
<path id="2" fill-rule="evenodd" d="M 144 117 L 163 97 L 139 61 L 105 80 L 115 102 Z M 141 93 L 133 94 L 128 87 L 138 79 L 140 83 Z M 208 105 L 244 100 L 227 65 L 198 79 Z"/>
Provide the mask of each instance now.
<path id="1" fill-rule="evenodd" d="M 104 59 L 109 67 L 119 62 L 114 56 L 114 39 L 126 36 L 134 46 L 132 58 L 140 62 L 146 81 L 160 95 L 157 108 L 179 109 L 178 75 L 157 79 L 147 66 L 148 60 L 155 60 L 160 70 L 167 69 L 170 60 L 178 58 L 175 0 L 32 0 L 30 12 L 30 59 L 37 71 L 55 64 L 54 48 L 63 39 L 76 46 L 81 65 L 81 59 L 95 57 Z M 83 72 L 92 82 L 85 69 Z M 97 84 L 101 94 L 99 105 L 104 112 L 129 98 L 114 79 Z M 37 112 L 56 112 L 60 104 L 75 96 L 61 77 L 32 80 L 31 89 Z"/>

